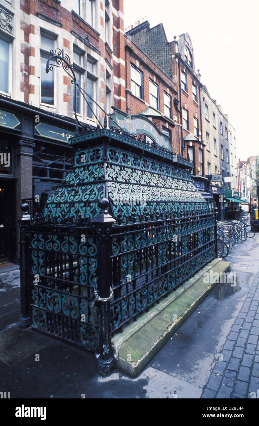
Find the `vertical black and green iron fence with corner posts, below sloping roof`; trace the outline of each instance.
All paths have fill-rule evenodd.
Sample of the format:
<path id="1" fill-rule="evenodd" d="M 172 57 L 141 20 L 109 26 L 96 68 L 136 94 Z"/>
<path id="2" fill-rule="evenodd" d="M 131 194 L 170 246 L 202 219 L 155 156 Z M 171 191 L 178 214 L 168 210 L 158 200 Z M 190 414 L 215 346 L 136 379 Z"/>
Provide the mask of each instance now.
<path id="1" fill-rule="evenodd" d="M 108 201 L 101 204 L 94 226 L 31 219 L 23 204 L 20 326 L 101 353 L 107 374 L 111 334 L 216 257 L 216 211 L 112 226 Z"/>

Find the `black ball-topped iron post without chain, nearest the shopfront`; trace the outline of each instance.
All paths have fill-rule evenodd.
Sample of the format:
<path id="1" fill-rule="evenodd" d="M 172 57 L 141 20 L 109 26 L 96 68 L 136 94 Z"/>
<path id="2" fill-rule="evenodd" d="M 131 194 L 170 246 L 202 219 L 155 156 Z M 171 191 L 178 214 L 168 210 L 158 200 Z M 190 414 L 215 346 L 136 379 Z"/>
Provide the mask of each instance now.
<path id="1" fill-rule="evenodd" d="M 20 227 L 20 283 L 21 283 L 21 316 L 20 328 L 28 328 L 30 326 L 30 283 L 28 272 L 28 225 L 31 223 L 31 216 L 28 214 L 29 206 L 21 204 L 22 214 L 18 217 L 17 222 Z"/>

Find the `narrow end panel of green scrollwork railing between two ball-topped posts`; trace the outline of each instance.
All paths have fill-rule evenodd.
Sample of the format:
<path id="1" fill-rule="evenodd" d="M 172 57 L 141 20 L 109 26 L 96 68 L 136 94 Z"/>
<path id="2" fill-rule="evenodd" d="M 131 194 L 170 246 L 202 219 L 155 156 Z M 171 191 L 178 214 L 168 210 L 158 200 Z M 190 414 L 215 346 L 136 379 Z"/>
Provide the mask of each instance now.
<path id="1" fill-rule="evenodd" d="M 98 324 L 90 311 L 97 270 L 95 229 L 36 222 L 28 238 L 32 327 L 98 351 Z"/>

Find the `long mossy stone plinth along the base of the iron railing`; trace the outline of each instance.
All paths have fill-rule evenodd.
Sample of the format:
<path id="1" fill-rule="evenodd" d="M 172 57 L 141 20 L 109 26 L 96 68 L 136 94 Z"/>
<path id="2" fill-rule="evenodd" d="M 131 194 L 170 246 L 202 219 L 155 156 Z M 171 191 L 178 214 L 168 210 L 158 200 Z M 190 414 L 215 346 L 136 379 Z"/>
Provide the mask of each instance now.
<path id="1" fill-rule="evenodd" d="M 214 259 L 112 339 L 120 371 L 136 377 L 220 282 L 230 264 Z M 223 275 L 224 276 L 224 275 Z M 206 277 L 206 278 L 205 278 Z"/>

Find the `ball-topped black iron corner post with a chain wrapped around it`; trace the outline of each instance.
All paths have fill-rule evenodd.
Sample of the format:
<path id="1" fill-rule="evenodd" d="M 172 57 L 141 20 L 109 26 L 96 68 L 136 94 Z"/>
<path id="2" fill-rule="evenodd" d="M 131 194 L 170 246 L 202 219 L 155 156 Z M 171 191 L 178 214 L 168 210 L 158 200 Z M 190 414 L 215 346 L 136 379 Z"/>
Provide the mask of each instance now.
<path id="1" fill-rule="evenodd" d="M 97 291 L 101 300 L 99 310 L 99 347 L 98 370 L 102 376 L 111 374 L 114 357 L 111 348 L 111 279 L 110 279 L 110 235 L 111 227 L 116 222 L 108 214 L 109 201 L 102 198 L 98 201 L 100 213 L 94 218 L 97 233 Z M 109 299 L 109 300 L 104 300 Z"/>

